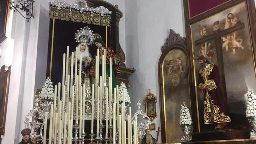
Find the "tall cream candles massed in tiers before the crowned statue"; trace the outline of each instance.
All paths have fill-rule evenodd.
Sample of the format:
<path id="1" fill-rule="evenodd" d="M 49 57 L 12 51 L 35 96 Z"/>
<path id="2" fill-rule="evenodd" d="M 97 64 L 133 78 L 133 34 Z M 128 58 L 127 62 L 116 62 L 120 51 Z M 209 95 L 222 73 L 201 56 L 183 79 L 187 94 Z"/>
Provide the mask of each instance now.
<path id="1" fill-rule="evenodd" d="M 71 71 L 70 75 L 68 73 L 69 66 L 69 47 L 67 47 L 67 53 L 63 54 L 63 76 L 62 76 L 62 85 L 58 83 L 58 86 L 55 85 L 55 95 L 53 99 L 53 104 L 51 105 L 50 111 L 50 129 L 49 129 L 49 142 L 53 139 L 53 144 L 71 144 L 72 142 L 72 133 L 73 133 L 73 116 L 75 116 L 76 124 L 78 125 L 79 119 L 79 137 L 82 137 L 85 127 L 85 84 L 81 84 L 81 64 L 79 64 L 79 72 L 77 73 L 78 67 L 78 57 L 76 54 L 74 58 L 74 53 L 71 53 Z M 75 59 L 75 72 L 73 73 L 73 61 Z M 100 61 L 102 60 L 102 61 Z M 79 61 L 82 61 L 82 58 L 79 58 Z M 123 95 L 123 103 L 121 104 L 121 115 L 119 113 L 119 86 L 114 87 L 114 100 L 113 100 L 113 87 L 112 87 L 112 59 L 109 59 L 109 69 L 110 77 L 108 78 L 109 85 L 106 87 L 106 50 L 103 50 L 102 56 L 100 56 L 99 49 L 97 49 L 97 55 L 95 57 L 95 84 L 92 84 L 92 104 L 91 104 L 91 134 L 93 134 L 93 121 L 94 121 L 94 108 L 95 104 L 97 105 L 97 128 L 96 128 L 96 137 L 99 138 L 100 127 L 102 124 L 102 113 L 105 113 L 105 130 L 108 137 L 109 125 L 112 125 L 113 129 L 113 144 L 116 143 L 115 138 L 117 133 L 119 133 L 119 143 L 122 144 L 132 144 L 132 121 L 133 121 L 133 130 L 134 130 L 134 144 L 137 144 L 137 117 L 135 120 L 132 120 L 131 108 L 129 108 L 129 115 L 125 116 L 125 97 Z M 99 75 L 100 63 L 102 64 L 102 76 Z M 78 75 L 77 75 L 78 74 Z M 73 83 L 74 80 L 74 83 Z M 61 87 L 62 86 L 62 87 Z M 62 92 L 61 92 L 62 89 Z M 124 94 L 124 93 L 123 93 Z M 62 95 L 62 99 L 60 96 Z M 102 98 L 105 98 L 103 102 Z M 78 101 L 79 100 L 79 101 Z M 97 102 L 97 103 L 94 103 Z M 75 113 L 73 113 L 75 104 Z M 105 109 L 103 110 L 103 104 Z M 78 112 L 78 107 L 80 111 Z M 111 113 L 112 112 L 112 113 Z M 79 116 L 79 118 L 78 118 Z M 46 123 L 47 125 L 47 116 Z M 112 120 L 113 118 L 113 120 Z M 127 126 L 126 126 L 127 124 Z M 67 137 L 66 137 L 67 132 Z M 127 132 L 127 133 L 126 133 Z M 58 136 L 58 137 L 57 137 Z M 127 136 L 127 137 L 126 137 Z M 46 128 L 44 132 L 43 144 L 45 144 L 46 138 Z M 61 140 L 63 138 L 63 142 Z"/>

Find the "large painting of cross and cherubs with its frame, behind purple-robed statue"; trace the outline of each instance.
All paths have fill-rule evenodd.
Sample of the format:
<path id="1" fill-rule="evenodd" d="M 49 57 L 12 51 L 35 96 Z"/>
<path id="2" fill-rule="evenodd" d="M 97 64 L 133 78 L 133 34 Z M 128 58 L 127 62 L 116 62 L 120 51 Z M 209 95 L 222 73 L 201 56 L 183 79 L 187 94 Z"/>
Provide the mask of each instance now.
<path id="1" fill-rule="evenodd" d="M 256 33 L 254 0 L 235 0 L 190 19 L 188 1 L 184 0 L 187 46 L 190 47 L 192 68 L 192 108 L 194 132 L 213 130 L 216 125 L 204 125 L 203 94 L 197 87 L 201 68 L 197 54 L 204 55 L 219 68 L 220 88 L 228 104 L 231 118 L 230 129 L 250 131 L 245 117 L 244 94 L 247 89 L 256 90 L 255 46 Z"/>

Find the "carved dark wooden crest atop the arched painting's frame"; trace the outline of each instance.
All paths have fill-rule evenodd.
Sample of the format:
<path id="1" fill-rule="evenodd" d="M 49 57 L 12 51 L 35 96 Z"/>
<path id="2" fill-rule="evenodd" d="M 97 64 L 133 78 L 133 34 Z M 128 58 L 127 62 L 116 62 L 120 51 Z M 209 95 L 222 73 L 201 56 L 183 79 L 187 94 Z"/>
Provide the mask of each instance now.
<path id="1" fill-rule="evenodd" d="M 170 33 L 168 35 L 168 38 L 166 38 L 166 41 L 164 45 L 161 47 L 161 51 L 164 52 L 166 48 L 171 47 L 171 45 L 178 44 L 186 45 L 186 38 L 181 37 L 179 33 L 175 33 L 173 29 L 170 29 Z"/>

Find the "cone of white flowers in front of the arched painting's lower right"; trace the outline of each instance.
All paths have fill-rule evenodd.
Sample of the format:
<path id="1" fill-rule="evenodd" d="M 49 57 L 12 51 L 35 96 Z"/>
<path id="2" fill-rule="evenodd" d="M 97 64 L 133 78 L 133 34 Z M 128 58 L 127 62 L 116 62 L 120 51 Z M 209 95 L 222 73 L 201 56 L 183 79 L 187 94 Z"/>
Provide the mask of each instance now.
<path id="1" fill-rule="evenodd" d="M 190 116 L 190 111 L 185 105 L 185 102 L 183 102 L 180 109 L 180 126 L 191 125 L 191 124 L 192 124 L 192 119 Z"/>

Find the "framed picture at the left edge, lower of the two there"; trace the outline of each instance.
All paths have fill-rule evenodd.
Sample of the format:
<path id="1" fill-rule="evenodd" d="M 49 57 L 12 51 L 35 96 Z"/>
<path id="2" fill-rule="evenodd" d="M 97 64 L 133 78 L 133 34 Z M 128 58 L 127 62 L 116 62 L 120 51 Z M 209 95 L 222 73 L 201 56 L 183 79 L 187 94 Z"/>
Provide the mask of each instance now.
<path id="1" fill-rule="evenodd" d="M 9 93 L 11 66 L 2 66 L 0 70 L 0 135 L 5 134 L 5 118 Z"/>

